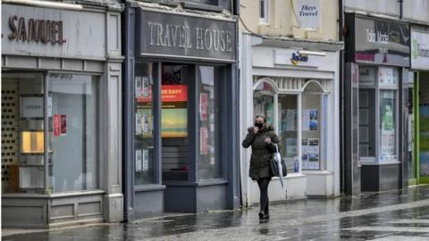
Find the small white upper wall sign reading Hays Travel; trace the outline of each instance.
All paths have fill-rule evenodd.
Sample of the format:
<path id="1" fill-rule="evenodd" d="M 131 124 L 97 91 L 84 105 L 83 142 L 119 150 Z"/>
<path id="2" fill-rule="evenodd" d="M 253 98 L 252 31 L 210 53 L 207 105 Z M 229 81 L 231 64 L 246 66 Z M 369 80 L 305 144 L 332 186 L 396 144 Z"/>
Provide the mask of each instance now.
<path id="1" fill-rule="evenodd" d="M 296 8 L 299 27 L 319 28 L 319 0 L 299 0 Z"/>

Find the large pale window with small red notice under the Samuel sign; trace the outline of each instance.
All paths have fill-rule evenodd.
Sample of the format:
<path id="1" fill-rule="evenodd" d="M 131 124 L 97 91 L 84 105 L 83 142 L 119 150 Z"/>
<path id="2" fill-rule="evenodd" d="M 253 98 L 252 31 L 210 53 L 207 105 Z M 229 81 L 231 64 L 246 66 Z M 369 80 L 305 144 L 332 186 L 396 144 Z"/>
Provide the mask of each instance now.
<path id="1" fill-rule="evenodd" d="M 49 75 L 51 191 L 98 188 L 98 84 L 96 76 Z"/>

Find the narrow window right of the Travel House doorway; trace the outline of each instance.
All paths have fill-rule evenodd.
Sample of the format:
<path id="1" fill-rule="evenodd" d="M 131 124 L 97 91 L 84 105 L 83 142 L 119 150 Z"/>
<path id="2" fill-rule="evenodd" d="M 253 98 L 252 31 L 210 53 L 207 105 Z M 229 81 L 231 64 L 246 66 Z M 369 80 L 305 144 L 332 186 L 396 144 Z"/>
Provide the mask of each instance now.
<path id="1" fill-rule="evenodd" d="M 222 178 L 222 162 L 218 158 L 218 143 L 221 129 L 217 129 L 222 82 L 222 69 L 213 66 L 198 67 L 199 86 L 199 179 Z"/>

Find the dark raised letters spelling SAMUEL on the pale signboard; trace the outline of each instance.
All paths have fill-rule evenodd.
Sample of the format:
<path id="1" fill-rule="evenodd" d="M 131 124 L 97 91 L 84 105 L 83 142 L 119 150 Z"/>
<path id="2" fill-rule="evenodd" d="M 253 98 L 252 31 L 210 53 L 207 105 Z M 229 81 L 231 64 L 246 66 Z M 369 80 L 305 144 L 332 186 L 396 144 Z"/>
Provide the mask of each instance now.
<path id="1" fill-rule="evenodd" d="M 63 21 L 32 19 L 13 15 L 9 17 L 11 33 L 9 39 L 22 42 L 40 42 L 62 45 L 67 40 L 63 37 Z"/>

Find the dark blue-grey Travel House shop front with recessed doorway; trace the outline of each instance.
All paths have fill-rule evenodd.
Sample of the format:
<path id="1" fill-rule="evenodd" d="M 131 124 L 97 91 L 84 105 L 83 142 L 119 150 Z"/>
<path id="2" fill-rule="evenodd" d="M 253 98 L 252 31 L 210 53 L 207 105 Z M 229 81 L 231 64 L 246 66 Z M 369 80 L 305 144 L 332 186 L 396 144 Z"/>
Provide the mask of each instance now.
<path id="1" fill-rule="evenodd" d="M 127 220 L 240 204 L 238 27 L 233 15 L 215 14 L 126 7 Z"/>

